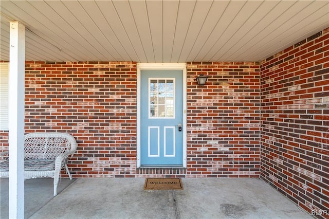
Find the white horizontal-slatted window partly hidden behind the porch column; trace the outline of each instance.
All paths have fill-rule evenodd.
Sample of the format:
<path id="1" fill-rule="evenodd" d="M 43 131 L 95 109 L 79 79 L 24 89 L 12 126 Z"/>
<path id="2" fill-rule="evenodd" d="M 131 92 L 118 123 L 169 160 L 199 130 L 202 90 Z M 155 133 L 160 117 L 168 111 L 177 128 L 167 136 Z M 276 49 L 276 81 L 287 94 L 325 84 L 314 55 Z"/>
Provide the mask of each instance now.
<path id="1" fill-rule="evenodd" d="M 0 63 L 0 130 L 8 130 L 9 63 Z"/>

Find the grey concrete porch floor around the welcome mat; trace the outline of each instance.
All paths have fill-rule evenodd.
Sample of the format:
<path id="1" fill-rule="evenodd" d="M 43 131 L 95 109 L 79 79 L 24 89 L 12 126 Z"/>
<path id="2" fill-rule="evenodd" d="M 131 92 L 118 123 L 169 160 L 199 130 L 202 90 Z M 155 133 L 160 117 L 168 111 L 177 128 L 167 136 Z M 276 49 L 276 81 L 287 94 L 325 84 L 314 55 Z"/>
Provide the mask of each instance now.
<path id="1" fill-rule="evenodd" d="M 26 218 L 313 218 L 260 179 L 182 178 L 184 190 L 143 190 L 144 178 L 25 180 Z M 1 218 L 8 218 L 8 179 Z"/>

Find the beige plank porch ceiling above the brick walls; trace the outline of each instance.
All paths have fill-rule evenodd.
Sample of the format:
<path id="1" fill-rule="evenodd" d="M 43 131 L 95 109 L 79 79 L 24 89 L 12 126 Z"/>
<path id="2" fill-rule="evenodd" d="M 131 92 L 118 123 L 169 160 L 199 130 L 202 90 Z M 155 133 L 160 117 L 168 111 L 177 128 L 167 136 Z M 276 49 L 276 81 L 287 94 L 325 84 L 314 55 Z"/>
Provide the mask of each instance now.
<path id="1" fill-rule="evenodd" d="M 329 27 L 328 1 L 0 1 L 26 26 L 26 60 L 262 61 Z"/>

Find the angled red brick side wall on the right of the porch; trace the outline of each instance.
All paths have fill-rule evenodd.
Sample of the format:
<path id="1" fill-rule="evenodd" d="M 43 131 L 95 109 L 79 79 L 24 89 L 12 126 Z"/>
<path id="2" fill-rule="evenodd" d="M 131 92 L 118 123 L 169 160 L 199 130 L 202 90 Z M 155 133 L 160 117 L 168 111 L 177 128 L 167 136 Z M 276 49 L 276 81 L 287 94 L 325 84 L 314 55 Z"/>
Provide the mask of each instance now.
<path id="1" fill-rule="evenodd" d="M 308 212 L 327 210 L 329 28 L 263 61 L 261 73 L 261 178 Z"/>

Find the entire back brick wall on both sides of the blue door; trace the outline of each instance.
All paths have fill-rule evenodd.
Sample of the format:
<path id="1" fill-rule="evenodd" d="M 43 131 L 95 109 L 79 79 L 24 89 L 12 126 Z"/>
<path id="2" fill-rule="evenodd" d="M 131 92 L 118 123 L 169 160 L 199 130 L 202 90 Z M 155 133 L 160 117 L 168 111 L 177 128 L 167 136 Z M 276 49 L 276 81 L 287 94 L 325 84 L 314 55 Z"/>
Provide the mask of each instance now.
<path id="1" fill-rule="evenodd" d="M 72 134 L 74 177 L 259 177 L 259 77 L 253 62 L 188 64 L 187 170 L 136 169 L 136 63 L 27 62 L 25 129 Z"/>

